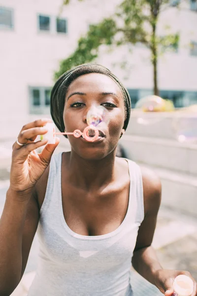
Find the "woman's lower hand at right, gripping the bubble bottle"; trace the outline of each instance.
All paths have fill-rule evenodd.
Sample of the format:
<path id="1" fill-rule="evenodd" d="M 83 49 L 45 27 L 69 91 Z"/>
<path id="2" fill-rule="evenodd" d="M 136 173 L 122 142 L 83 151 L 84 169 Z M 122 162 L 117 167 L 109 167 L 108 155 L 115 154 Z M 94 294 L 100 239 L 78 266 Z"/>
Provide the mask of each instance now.
<path id="1" fill-rule="evenodd" d="M 155 275 L 155 285 L 165 296 L 173 296 L 173 282 L 180 274 L 187 275 L 193 280 L 194 291 L 191 296 L 197 296 L 197 282 L 188 271 L 160 269 Z"/>

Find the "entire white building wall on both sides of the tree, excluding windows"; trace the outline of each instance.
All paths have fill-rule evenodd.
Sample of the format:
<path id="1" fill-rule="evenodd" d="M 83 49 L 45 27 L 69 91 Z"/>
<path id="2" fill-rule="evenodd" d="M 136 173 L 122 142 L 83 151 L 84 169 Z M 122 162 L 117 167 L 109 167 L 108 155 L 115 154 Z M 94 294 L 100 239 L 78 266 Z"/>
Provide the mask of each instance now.
<path id="1" fill-rule="evenodd" d="M 0 0 L 0 6 L 14 11 L 14 29 L 0 29 L 0 138 L 16 135 L 22 122 L 30 119 L 29 87 L 51 87 L 53 74 L 59 61 L 75 48 L 78 38 L 90 23 L 97 23 L 109 16 L 120 0 L 71 0 L 64 7 L 61 17 L 67 18 L 68 33 L 39 32 L 37 14 L 57 16 L 62 0 Z M 197 12 L 189 8 L 178 12 L 170 8 L 161 17 L 159 32 L 170 24 L 174 32 L 181 31 L 178 53 L 168 53 L 159 62 L 159 86 L 162 89 L 197 91 L 197 57 L 189 54 L 190 40 L 197 41 Z M 105 48 L 101 51 L 105 52 Z M 100 63 L 122 78 L 129 88 L 153 87 L 150 53 L 145 48 L 135 48 L 132 54 L 120 48 L 107 55 Z M 121 60 L 131 69 L 121 70 L 113 66 Z M 40 117 L 40 116 L 39 116 Z"/>

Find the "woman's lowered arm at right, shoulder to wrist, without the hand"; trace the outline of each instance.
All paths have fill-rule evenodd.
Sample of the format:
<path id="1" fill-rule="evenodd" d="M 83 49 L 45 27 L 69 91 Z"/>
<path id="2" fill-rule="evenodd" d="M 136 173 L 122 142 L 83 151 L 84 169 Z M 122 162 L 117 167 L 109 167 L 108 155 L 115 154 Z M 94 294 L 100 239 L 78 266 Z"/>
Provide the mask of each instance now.
<path id="1" fill-rule="evenodd" d="M 155 284 L 155 273 L 162 266 L 151 244 L 161 204 L 162 186 L 160 179 L 151 170 L 142 170 L 142 181 L 145 216 L 138 230 L 132 265 L 141 276 Z"/>

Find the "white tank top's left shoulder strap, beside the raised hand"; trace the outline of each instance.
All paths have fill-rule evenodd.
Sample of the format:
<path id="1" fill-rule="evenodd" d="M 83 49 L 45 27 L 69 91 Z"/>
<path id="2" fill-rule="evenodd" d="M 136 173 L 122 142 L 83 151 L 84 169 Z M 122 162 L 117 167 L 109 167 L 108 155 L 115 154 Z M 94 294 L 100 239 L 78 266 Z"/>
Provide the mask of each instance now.
<path id="1" fill-rule="evenodd" d="M 43 215 L 49 207 L 53 208 L 53 212 L 58 211 L 58 185 L 59 178 L 61 178 L 61 167 L 62 152 L 51 157 L 46 193 L 40 209 L 40 215 Z"/>

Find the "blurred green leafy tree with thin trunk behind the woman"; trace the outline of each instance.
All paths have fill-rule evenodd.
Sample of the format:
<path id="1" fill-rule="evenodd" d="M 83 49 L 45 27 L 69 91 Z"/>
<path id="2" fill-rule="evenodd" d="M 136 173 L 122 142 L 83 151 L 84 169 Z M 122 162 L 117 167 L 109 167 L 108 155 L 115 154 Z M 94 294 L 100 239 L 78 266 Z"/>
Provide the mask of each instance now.
<path id="1" fill-rule="evenodd" d="M 69 2 L 65 0 L 64 4 Z M 74 66 L 94 61 L 102 44 L 120 46 L 140 42 L 151 51 L 154 94 L 159 95 L 159 52 L 166 48 L 176 49 L 179 40 L 178 34 L 157 35 L 159 15 L 170 6 L 170 2 L 176 7 L 179 4 L 178 0 L 123 0 L 113 15 L 104 18 L 99 24 L 90 25 L 87 34 L 79 38 L 75 51 L 60 62 L 55 78 Z"/>

